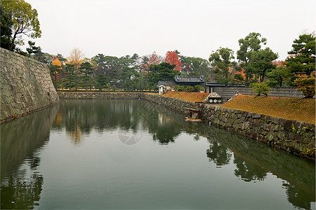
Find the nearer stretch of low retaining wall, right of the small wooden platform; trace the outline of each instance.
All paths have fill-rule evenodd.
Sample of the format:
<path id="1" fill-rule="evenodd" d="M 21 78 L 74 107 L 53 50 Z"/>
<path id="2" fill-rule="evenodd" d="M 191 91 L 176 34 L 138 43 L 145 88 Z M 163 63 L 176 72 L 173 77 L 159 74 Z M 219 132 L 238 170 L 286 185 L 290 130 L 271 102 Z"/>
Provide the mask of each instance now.
<path id="1" fill-rule="evenodd" d="M 301 153 L 315 148 L 315 125 L 271 116 L 200 104 L 200 116 L 212 125 L 235 130 L 252 139 Z"/>

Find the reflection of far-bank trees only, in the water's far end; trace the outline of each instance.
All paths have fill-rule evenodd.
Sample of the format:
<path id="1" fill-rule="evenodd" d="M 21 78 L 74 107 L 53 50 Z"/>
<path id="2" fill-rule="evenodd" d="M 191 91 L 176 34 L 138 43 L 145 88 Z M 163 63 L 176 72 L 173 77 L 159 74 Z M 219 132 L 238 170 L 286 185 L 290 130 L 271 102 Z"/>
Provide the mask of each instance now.
<path id="1" fill-rule="evenodd" d="M 80 144 L 81 134 L 90 134 L 92 129 L 134 133 L 139 129 L 149 130 L 154 141 L 168 144 L 180 134 L 181 120 L 179 115 L 143 100 L 64 100 L 53 129 L 65 128 L 74 144 Z"/>

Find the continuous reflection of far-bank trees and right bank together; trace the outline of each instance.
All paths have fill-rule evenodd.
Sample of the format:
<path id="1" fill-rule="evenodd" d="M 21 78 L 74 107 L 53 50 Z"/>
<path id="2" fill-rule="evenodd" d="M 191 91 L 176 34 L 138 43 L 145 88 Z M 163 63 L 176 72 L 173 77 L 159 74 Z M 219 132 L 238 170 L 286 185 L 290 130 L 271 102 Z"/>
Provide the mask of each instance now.
<path id="1" fill-rule="evenodd" d="M 233 160 L 234 174 L 242 181 L 263 181 L 268 173 L 273 173 L 287 181 L 283 187 L 294 207 L 310 209 L 310 202 L 315 202 L 315 165 L 309 160 L 205 123 L 184 122 L 183 116 L 142 100 L 69 100 L 63 103 L 54 129 L 65 127 L 68 132 L 81 130 L 82 134 L 92 129 L 99 132 L 148 130 L 153 141 L 159 144 L 174 142 L 181 132 L 195 134 L 195 140 L 198 136 L 206 137 L 209 161 L 223 167 Z"/>

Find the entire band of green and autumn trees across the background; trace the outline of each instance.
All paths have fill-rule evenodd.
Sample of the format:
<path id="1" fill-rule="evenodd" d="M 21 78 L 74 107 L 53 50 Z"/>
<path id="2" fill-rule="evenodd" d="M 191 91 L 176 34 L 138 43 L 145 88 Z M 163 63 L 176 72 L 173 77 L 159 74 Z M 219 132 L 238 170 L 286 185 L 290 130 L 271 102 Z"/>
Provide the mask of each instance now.
<path id="1" fill-rule="evenodd" d="M 22 35 L 41 37 L 36 9 L 23 0 L 1 1 L 1 47 L 48 64 L 56 88 L 85 90 L 123 88 L 124 90 L 156 90 L 158 80 L 173 80 L 175 75 L 204 76 L 205 81 L 245 83 L 246 86 L 297 86 L 308 97 L 315 94 L 315 32 L 301 34 L 292 44 L 284 61 L 270 48 L 267 39 L 252 32 L 238 40 L 236 55 L 229 48 L 213 50 L 208 59 L 186 57 L 178 50 L 165 56 L 115 57 L 99 53 L 91 58 L 74 48 L 69 57 L 50 55 L 29 41 L 27 52 Z M 180 88 L 181 89 L 181 88 Z"/>

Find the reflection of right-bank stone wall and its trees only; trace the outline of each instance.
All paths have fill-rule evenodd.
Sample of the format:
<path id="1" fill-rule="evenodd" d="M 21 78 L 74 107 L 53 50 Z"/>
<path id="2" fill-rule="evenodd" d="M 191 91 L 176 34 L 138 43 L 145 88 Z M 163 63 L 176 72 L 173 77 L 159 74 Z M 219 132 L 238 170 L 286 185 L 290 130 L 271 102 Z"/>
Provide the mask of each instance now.
<path id="1" fill-rule="evenodd" d="M 242 181 L 263 181 L 268 173 L 273 173 L 287 181 L 282 188 L 286 189 L 287 200 L 294 207 L 310 209 L 310 202 L 315 202 L 315 165 L 310 160 L 216 127 L 196 129 L 209 141 L 207 157 L 210 161 L 217 165 L 228 164 L 229 152 L 233 153 L 237 168 L 234 174 Z"/>

